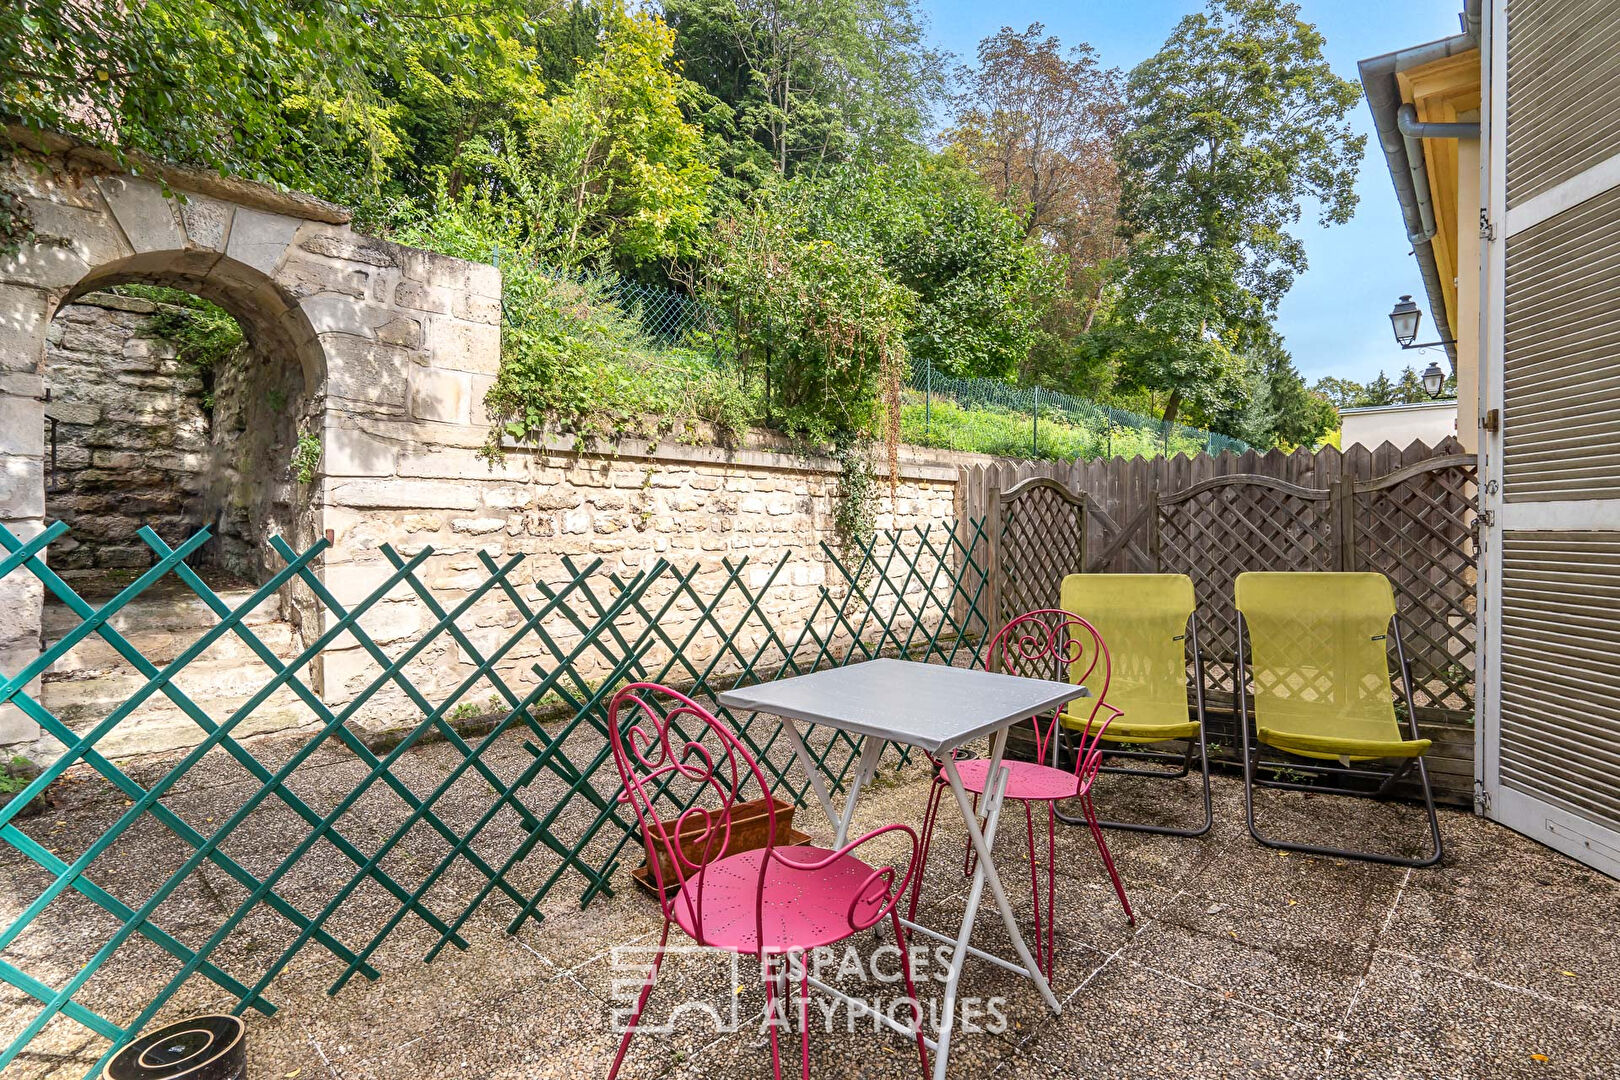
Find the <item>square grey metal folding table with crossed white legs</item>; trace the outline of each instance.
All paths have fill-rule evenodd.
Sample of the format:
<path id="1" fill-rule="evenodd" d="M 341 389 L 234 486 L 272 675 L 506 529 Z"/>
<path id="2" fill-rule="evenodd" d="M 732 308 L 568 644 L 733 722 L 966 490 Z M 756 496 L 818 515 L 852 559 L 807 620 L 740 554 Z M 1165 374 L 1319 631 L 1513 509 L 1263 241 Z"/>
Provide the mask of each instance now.
<path id="1" fill-rule="evenodd" d="M 872 779 L 883 750 L 888 743 L 904 743 L 925 750 L 943 764 L 946 784 L 956 795 L 956 806 L 962 813 L 967 826 L 967 837 L 978 858 L 975 860 L 972 886 L 967 892 L 967 910 L 962 913 L 962 926 L 954 938 L 941 934 L 927 926 L 901 920 L 902 925 L 927 938 L 954 946 L 951 968 L 944 983 L 944 1007 L 941 1009 L 940 1030 L 935 1038 L 925 1043 L 933 1051 L 935 1080 L 944 1080 L 946 1065 L 951 1054 L 951 1028 L 956 1025 L 956 993 L 962 978 L 962 965 L 969 955 L 988 960 L 1009 972 L 1022 975 L 1035 983 L 1040 996 L 1053 1012 L 1061 1012 L 1058 997 L 1051 993 L 1047 976 L 1040 973 L 1035 959 L 1024 944 L 1013 907 L 1001 889 L 1001 876 L 996 873 L 990 848 L 996 839 L 996 824 L 1001 819 L 1001 801 L 1006 792 L 1008 771 L 1001 766 L 1001 755 L 1006 750 L 1008 730 L 1030 716 L 1045 714 L 1059 704 L 1076 698 L 1089 696 L 1085 687 L 1042 678 L 1017 678 L 993 672 L 970 670 L 966 667 L 946 667 L 943 664 L 917 664 L 912 661 L 867 661 L 847 667 L 831 667 L 812 675 L 781 678 L 757 687 L 742 687 L 719 695 L 719 703 L 729 709 L 770 712 L 782 717 L 782 730 L 810 777 L 810 787 L 828 821 L 833 824 L 836 839 L 833 847 L 842 847 L 849 837 L 849 823 L 855 814 L 855 800 L 860 789 Z M 799 730 L 799 721 L 836 727 L 850 735 L 862 735 L 860 764 L 850 780 L 849 795 L 844 800 L 844 811 L 839 813 L 828 792 L 821 767 L 805 746 Z M 983 735 L 991 735 L 990 743 L 990 790 L 974 811 L 972 798 L 962 787 L 951 751 Z M 919 868 L 920 870 L 920 868 Z M 983 899 L 985 886 L 995 899 L 1001 921 L 1008 936 L 1017 949 L 1017 960 L 993 955 L 970 944 L 974 920 L 978 915 L 978 904 Z M 841 997 L 854 1006 L 846 994 L 821 980 L 810 983 L 834 997 Z M 888 1020 L 885 1017 L 885 1020 Z M 910 1030 L 891 1022 L 889 1027 L 912 1035 Z"/>

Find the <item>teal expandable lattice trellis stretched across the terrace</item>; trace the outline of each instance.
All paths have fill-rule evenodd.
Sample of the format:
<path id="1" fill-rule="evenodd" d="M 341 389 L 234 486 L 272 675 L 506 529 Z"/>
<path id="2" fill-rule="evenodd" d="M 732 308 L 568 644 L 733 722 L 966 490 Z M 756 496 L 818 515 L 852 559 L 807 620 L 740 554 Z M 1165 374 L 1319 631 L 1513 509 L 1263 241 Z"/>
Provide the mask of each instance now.
<path id="1" fill-rule="evenodd" d="M 497 559 L 481 552 L 481 580 L 471 588 L 458 588 L 450 599 L 437 596 L 424 581 L 431 549 L 407 559 L 384 546 L 381 551 L 389 572 L 353 604 L 340 602 L 321 578 L 318 567 L 327 549 L 326 541 L 295 552 L 274 539 L 284 567 L 237 606 L 220 599 L 186 565 L 186 559 L 206 542 L 206 529 L 172 547 L 152 529 L 143 528 L 139 538 L 152 551 L 151 568 L 100 607 L 86 602 L 45 563 L 45 551 L 66 531 L 58 521 L 24 541 L 0 525 L 0 581 L 13 573 L 31 573 L 79 619 L 37 659 L 16 672 L 0 670 L 0 704 L 21 709 L 66 748 L 28 789 L 0 806 L 0 837 L 45 871 L 44 876 L 36 873 L 28 878 L 44 884 L 37 892 L 19 897 L 26 907 L 0 931 L 0 981 L 39 1002 L 37 1014 L 0 1051 L 0 1070 L 60 1017 L 107 1040 L 100 1061 L 86 1074 L 94 1075 L 193 978 L 207 980 L 230 994 L 238 1014 L 253 1009 L 269 1015 L 275 1010 L 266 997 L 272 980 L 309 946 L 319 946 L 343 963 L 329 988 L 335 994 L 356 973 L 377 978 L 371 959 L 408 921 L 429 929 L 433 942 L 424 959 L 433 960 L 447 944 L 467 947 L 462 931 L 488 902 L 509 905 L 510 933 L 526 920 L 539 921 L 539 904 L 570 874 L 583 882 L 578 894 L 582 905 L 598 895 L 611 895 L 625 848 L 633 852 L 637 837 L 633 823 L 616 803 L 617 774 L 606 738 L 608 701 L 625 682 L 684 687 L 692 696 L 713 704 L 716 693 L 734 685 L 878 654 L 946 664 L 977 662 L 988 630 L 983 614 L 988 538 L 982 521 L 883 531 L 852 552 L 823 544 L 818 560 L 802 560 L 795 567 L 804 570 L 810 565 L 825 572 L 828 583 L 813 586 L 791 585 L 787 578 L 792 575 L 784 576 L 794 562 L 792 552 L 763 568 L 750 565 L 747 557 L 727 557 L 718 573 L 713 568 L 700 573 L 698 565 L 682 570 L 658 560 L 640 573 L 624 575 L 606 572 L 599 559 L 578 562 L 564 557 L 561 573 L 549 581 L 539 575 L 531 581 L 528 575 L 520 576 L 522 554 Z M 173 661 L 159 665 L 115 628 L 113 617 L 165 578 L 180 581 L 215 622 Z M 808 580 L 808 573 L 800 580 Z M 256 635 L 248 617 L 259 606 L 274 604 L 277 593 L 287 586 L 301 586 L 314 597 L 322 617 L 311 622 L 322 630 L 296 656 L 284 661 Z M 770 614 L 804 612 L 807 604 L 787 606 L 781 601 L 795 594 L 802 597 L 805 591 L 813 599 L 808 615 L 784 620 L 781 614 Z M 379 641 L 368 630 L 368 623 L 374 625 L 368 615 L 384 602 L 418 606 L 423 628 L 407 641 Z M 492 610 L 501 612 L 497 620 L 491 619 Z M 491 625 L 499 625 L 494 640 Z M 75 729 L 44 708 L 28 687 L 91 635 L 105 641 L 144 682 L 102 719 Z M 181 688 L 177 677 L 227 636 L 240 640 L 259 667 L 241 674 L 243 685 L 256 690 L 228 716 L 215 717 Z M 374 672 L 368 669 L 369 678 L 358 688 L 324 698 L 306 677 L 311 662 L 330 649 L 356 648 Z M 454 651 L 458 661 L 449 685 L 442 662 L 446 651 Z M 531 664 L 517 659 L 533 656 L 539 659 Z M 309 724 L 300 729 L 296 740 L 282 738 L 274 750 L 267 750 L 269 743 L 238 737 L 245 721 L 272 695 L 284 691 L 296 696 L 309 712 Z M 194 722 L 199 738 L 162 776 L 143 784 L 99 751 L 97 743 L 120 724 L 131 722 L 152 699 L 165 699 Z M 480 699 L 491 704 L 476 725 L 481 733 L 468 735 L 468 729 L 455 721 L 463 711 L 478 712 Z M 384 703 L 392 709 L 390 716 L 397 716 L 400 701 L 407 703 L 403 708 L 413 719 L 395 727 L 389 748 L 381 750 L 363 735 L 358 721 L 379 712 Z M 757 751 L 776 793 L 802 805 L 808 777 L 789 769 L 789 756 L 778 743 L 779 722 L 732 716 L 718 706 L 716 711 Z M 520 740 L 526 756 L 522 767 L 514 767 L 504 753 L 514 738 Z M 434 782 L 424 784 L 421 771 L 407 766 L 410 751 L 429 740 L 449 746 L 454 764 L 442 776 L 434 774 Z M 859 759 L 859 740 L 842 732 L 812 730 L 808 742 L 823 772 L 841 787 Z M 318 755 L 324 759 L 334 751 L 355 763 L 358 777 L 353 767 L 314 771 L 311 759 Z M 178 785 L 188 776 L 198 776 L 207 763 L 225 758 L 240 766 L 253 784 L 243 785 L 241 801 L 224 821 L 188 819 L 185 800 L 175 798 Z M 899 751 L 896 758 L 904 761 Z M 300 772 L 301 767 L 306 771 Z M 62 853 L 13 819 L 70 769 L 73 776 L 99 776 L 117 789 L 125 805 L 117 819 L 83 850 Z M 330 790 L 330 782 L 322 779 L 327 776 L 355 779 L 345 779 L 342 790 Z M 316 790 L 319 798 L 313 795 Z M 402 808 L 402 819 L 389 819 L 381 829 L 366 818 L 377 792 L 392 793 L 397 801 L 390 806 Z M 447 798 L 452 792 L 454 798 Z M 481 801 L 476 813 L 468 805 L 471 798 Z M 269 810 L 280 814 L 277 821 L 285 821 L 290 813 L 306 832 L 274 865 L 258 866 L 264 860 L 249 860 L 256 865 L 249 870 L 224 845 L 233 836 L 249 836 L 256 814 Z M 496 823 L 515 823 L 517 827 L 494 827 Z M 94 871 L 97 860 L 131 836 L 138 824 L 167 831 L 186 855 L 149 891 L 149 882 L 141 881 L 141 895 L 120 895 L 136 887 L 128 874 L 117 881 L 104 876 L 97 882 Z M 426 866 L 399 857 L 420 836 L 437 837 L 444 848 Z M 352 865 L 352 873 L 316 910 L 305 894 L 287 889 L 287 882 L 300 866 L 332 850 Z M 201 944 L 188 946 L 177 933 L 164 929 L 165 915 L 173 910 L 177 891 L 193 881 L 204 865 L 224 873 L 243 895 L 217 926 L 204 928 L 207 936 Z M 447 904 L 446 891 L 436 891 L 436 886 L 457 865 L 476 874 L 478 887 L 471 899 L 450 891 L 454 902 Z M 369 939 L 343 941 L 343 934 L 353 934 L 353 923 L 335 918 L 339 912 L 361 892 L 376 902 L 379 891 L 394 905 L 392 913 L 381 921 L 366 920 L 368 931 L 376 926 Z M 99 908 L 112 916 L 117 929 L 107 933 L 94 954 L 65 981 L 52 984 L 26 970 L 16 946 L 31 928 L 39 933 L 39 926 L 49 923 L 42 918 L 47 908 L 63 904 L 79 905 L 66 908 L 66 918 L 87 916 Z M 230 954 L 220 946 L 259 913 L 277 920 L 288 941 L 267 963 L 256 957 L 251 973 L 232 973 L 220 959 Z M 104 923 L 105 918 L 96 921 L 97 926 Z M 188 939 L 194 941 L 198 928 L 186 929 Z M 97 993 L 87 984 L 104 968 L 117 968 L 117 957 L 131 938 L 159 947 L 175 970 L 133 1017 L 115 1020 L 97 1012 Z"/>

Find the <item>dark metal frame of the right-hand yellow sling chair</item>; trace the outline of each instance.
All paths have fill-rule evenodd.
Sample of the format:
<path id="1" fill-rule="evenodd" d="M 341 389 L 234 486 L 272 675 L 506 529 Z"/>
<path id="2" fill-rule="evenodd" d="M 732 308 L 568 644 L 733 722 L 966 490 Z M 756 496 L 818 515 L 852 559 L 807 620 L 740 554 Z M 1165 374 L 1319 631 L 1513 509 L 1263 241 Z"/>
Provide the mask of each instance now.
<path id="1" fill-rule="evenodd" d="M 1406 701 L 1406 727 L 1408 732 L 1411 733 L 1411 738 L 1422 738 L 1422 735 L 1418 733 L 1418 712 L 1413 708 L 1413 669 L 1411 662 L 1408 662 L 1406 659 L 1406 644 L 1401 640 L 1400 615 L 1390 617 L 1390 633 L 1395 635 L 1395 657 L 1400 662 L 1400 670 L 1401 670 L 1401 696 Z M 1236 683 L 1238 716 L 1239 716 L 1238 735 L 1239 735 L 1239 743 L 1243 745 L 1243 803 L 1244 803 L 1244 814 L 1249 823 L 1249 836 L 1252 836 L 1256 840 L 1259 840 L 1267 847 L 1275 847 L 1285 852 L 1304 852 L 1307 855 L 1332 855 L 1336 858 L 1358 858 L 1367 863 L 1385 863 L 1388 866 L 1422 868 L 1422 866 L 1434 866 L 1435 863 L 1439 863 L 1440 858 L 1445 855 L 1445 845 L 1440 840 L 1440 818 L 1434 810 L 1434 789 L 1429 784 L 1429 769 L 1424 766 L 1421 755 L 1416 758 L 1408 758 L 1395 769 L 1385 772 L 1380 769 L 1356 769 L 1353 766 L 1341 766 L 1341 764 L 1330 766 L 1330 764 L 1322 764 L 1312 758 L 1262 761 L 1257 733 L 1254 733 L 1256 745 L 1251 750 L 1247 646 L 1249 646 L 1249 627 L 1243 619 L 1243 612 L 1238 612 L 1238 683 Z M 1259 721 L 1256 719 L 1256 729 L 1257 727 Z M 1362 852 L 1356 848 L 1325 847 L 1325 845 L 1319 847 L 1314 844 L 1294 844 L 1291 840 L 1275 840 L 1260 832 L 1259 826 L 1254 824 L 1256 787 L 1312 792 L 1317 795 L 1349 795 L 1353 798 L 1371 797 L 1382 801 L 1388 798 L 1390 792 L 1395 789 L 1395 784 L 1400 782 L 1400 779 L 1405 777 L 1408 772 L 1411 772 L 1414 764 L 1418 767 L 1418 779 L 1422 782 L 1424 808 L 1429 813 L 1429 836 L 1434 839 L 1432 855 L 1426 855 L 1421 858 L 1403 858 L 1400 855 L 1387 855 L 1382 852 Z M 1324 777 L 1336 776 L 1346 779 L 1348 777 L 1371 779 L 1371 780 L 1380 780 L 1380 784 L 1377 790 L 1369 793 L 1362 789 L 1353 789 L 1353 787 L 1322 787 L 1317 784 L 1299 784 L 1294 780 L 1264 780 L 1256 776 L 1256 771 L 1265 766 L 1273 766 L 1278 769 L 1294 769 L 1299 772 L 1315 772 Z"/>

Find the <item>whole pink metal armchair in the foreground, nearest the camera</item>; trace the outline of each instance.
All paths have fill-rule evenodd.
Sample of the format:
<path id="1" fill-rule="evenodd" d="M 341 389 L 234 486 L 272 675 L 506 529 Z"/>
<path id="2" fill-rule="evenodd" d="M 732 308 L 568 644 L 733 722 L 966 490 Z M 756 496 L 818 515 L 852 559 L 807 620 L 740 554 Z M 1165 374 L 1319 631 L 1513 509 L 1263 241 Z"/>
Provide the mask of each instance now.
<path id="1" fill-rule="evenodd" d="M 608 1078 L 614 1080 L 630 1049 L 646 999 L 664 960 L 669 926 L 700 946 L 760 959 L 771 1038 L 771 1070 L 781 1080 L 776 1028 L 789 997 L 787 957 L 831 946 L 888 918 L 901 941 L 901 897 L 917 866 L 917 834 L 901 824 L 873 829 L 834 850 L 778 847 L 776 813 L 766 800 L 763 848 L 727 853 L 732 808 L 744 801 L 750 780 L 768 793 L 758 763 L 731 730 L 703 706 L 658 683 L 632 683 L 612 698 L 608 733 L 614 764 L 624 780 L 620 803 L 635 810 L 663 897 L 664 929 L 653 968 L 630 1012 L 630 1023 Z M 659 810 L 663 806 L 663 813 Z M 674 819 L 664 814 L 676 813 Z M 870 866 L 855 848 L 888 832 L 910 840 L 906 871 Z M 666 879 L 666 868 L 674 874 Z M 810 1077 L 808 965 L 800 965 L 799 1028 L 804 1077 Z M 901 950 L 901 970 L 910 997 L 917 1054 L 928 1075 L 922 1010 L 912 981 L 910 957 Z"/>

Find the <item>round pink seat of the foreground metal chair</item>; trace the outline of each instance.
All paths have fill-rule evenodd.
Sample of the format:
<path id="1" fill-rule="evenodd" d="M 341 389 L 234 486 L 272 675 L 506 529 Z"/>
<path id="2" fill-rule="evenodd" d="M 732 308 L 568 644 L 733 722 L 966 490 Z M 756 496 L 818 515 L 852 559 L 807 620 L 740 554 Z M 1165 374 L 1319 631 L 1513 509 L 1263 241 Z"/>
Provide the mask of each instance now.
<path id="1" fill-rule="evenodd" d="M 765 913 L 760 902 L 763 850 L 727 855 L 687 879 L 674 900 L 674 918 L 693 939 L 719 949 L 757 954 L 757 921 L 763 921 L 765 949 L 816 949 L 849 938 L 850 912 L 865 915 L 886 899 L 886 884 L 873 866 L 854 855 L 839 855 L 826 866 L 800 870 L 833 855 L 825 847 L 779 847 L 771 852 L 765 878 Z M 701 892 L 700 892 L 701 891 Z M 867 904 L 859 904 L 865 894 Z M 701 929 L 697 926 L 701 895 Z M 860 910 L 857 910 L 860 908 Z"/>

